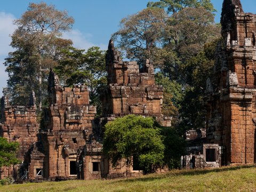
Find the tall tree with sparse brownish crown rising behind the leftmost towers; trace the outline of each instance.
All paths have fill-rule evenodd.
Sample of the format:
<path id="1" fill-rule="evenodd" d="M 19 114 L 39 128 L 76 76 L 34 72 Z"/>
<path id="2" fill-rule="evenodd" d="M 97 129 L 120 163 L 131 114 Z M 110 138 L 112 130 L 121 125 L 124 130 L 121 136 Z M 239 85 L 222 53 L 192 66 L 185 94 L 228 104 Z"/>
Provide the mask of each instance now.
<path id="1" fill-rule="evenodd" d="M 60 50 L 72 44 L 62 39 L 61 34 L 70 30 L 73 23 L 67 11 L 59 11 L 43 2 L 30 3 L 21 18 L 14 21 L 18 29 L 12 35 L 11 46 L 15 51 L 9 53 L 5 62 L 9 74 L 5 93 L 9 93 L 11 101 L 23 103 L 23 98 L 18 99 L 18 96 L 27 97 L 26 90 L 35 89 L 39 109 L 42 108 L 45 75 L 57 64 Z"/>

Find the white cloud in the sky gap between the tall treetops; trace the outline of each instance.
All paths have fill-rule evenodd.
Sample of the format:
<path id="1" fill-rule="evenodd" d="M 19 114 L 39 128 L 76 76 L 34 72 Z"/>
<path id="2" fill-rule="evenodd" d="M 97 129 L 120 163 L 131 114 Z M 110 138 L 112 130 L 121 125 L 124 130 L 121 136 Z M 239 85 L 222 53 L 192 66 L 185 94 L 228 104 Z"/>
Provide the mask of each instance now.
<path id="1" fill-rule="evenodd" d="M 73 41 L 73 44 L 76 48 L 78 49 L 85 49 L 87 50 L 88 48 L 92 46 L 99 46 L 102 50 L 107 49 L 107 45 L 105 44 L 94 44 L 90 42 L 90 38 L 92 37 L 91 34 L 82 34 L 81 31 L 78 29 L 73 29 L 65 34 L 63 34 L 63 38 L 66 39 L 71 39 Z"/>

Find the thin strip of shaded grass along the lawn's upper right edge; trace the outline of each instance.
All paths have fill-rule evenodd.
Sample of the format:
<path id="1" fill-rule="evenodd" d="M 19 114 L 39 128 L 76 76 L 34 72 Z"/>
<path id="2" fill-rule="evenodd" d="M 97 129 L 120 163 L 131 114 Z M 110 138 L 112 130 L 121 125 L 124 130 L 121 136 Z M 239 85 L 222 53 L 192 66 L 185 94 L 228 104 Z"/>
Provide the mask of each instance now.
<path id="1" fill-rule="evenodd" d="M 137 181 L 153 181 L 168 177 L 179 177 L 182 175 L 202 175 L 207 173 L 219 173 L 219 172 L 226 172 L 226 171 L 235 171 L 239 169 L 250 169 L 256 167 L 256 165 L 242 165 L 242 166 L 227 166 L 217 169 L 202 169 L 202 170 L 174 170 L 170 171 L 164 174 L 154 174 L 152 176 L 145 175 L 145 177 L 142 178 L 132 178 L 132 179 L 125 179 L 125 180 L 118 180 L 118 182 L 137 182 Z"/>

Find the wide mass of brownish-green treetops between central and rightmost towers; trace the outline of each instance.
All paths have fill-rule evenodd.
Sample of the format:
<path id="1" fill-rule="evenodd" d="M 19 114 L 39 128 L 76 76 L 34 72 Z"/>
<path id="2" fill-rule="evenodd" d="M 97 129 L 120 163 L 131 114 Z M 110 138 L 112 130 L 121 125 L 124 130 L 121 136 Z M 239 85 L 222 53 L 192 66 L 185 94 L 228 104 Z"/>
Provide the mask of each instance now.
<path id="1" fill-rule="evenodd" d="M 148 58 L 165 76 L 185 86 L 182 65 L 202 52 L 204 44 L 220 37 L 212 3 L 161 0 L 149 4 L 148 9 L 122 19 L 113 37 L 127 58 L 139 63 Z M 166 6 L 173 10 L 169 17 L 161 9 Z"/>

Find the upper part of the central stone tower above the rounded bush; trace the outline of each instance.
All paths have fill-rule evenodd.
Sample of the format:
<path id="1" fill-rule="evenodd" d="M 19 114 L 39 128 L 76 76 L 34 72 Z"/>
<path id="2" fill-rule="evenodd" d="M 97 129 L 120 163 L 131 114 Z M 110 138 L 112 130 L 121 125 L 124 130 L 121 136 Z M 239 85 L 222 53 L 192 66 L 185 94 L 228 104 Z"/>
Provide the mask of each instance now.
<path id="1" fill-rule="evenodd" d="M 155 84 L 149 60 L 145 60 L 141 70 L 137 62 L 122 61 L 110 40 L 106 69 L 108 86 L 102 94 L 103 116 L 155 116 L 163 126 L 171 126 L 171 118 L 162 115 L 163 87 Z"/>

